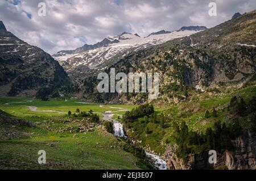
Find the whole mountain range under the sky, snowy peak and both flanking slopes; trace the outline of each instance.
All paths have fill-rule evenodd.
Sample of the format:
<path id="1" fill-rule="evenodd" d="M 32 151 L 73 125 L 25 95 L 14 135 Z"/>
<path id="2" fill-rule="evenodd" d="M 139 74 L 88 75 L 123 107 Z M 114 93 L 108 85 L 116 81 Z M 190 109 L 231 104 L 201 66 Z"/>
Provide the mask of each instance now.
<path id="1" fill-rule="evenodd" d="M 62 95 L 79 92 L 93 101 L 137 103 L 142 95 L 98 95 L 97 74 L 158 71 L 160 98 L 177 102 L 186 89 L 208 90 L 221 82 L 246 82 L 255 74 L 255 11 L 216 27 L 181 27 L 147 37 L 123 32 L 99 43 L 51 57 L 8 32 L 0 23 L 1 95 Z M 143 95 L 144 96 L 144 95 Z"/>

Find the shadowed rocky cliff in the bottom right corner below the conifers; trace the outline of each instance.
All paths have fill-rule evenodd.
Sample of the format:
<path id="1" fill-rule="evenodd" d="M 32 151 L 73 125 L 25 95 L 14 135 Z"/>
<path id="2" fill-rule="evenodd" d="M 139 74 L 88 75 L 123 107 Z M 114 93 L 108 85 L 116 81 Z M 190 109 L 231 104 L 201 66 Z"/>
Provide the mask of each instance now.
<path id="1" fill-rule="evenodd" d="M 177 146 L 168 146 L 164 154 L 169 170 L 201 170 L 201 169 L 229 169 L 229 170 L 255 170 L 256 169 L 256 134 L 250 131 L 233 140 L 235 150 L 226 150 L 224 153 L 217 153 L 217 164 L 211 165 L 208 162 L 208 153 L 190 154 L 188 162 L 175 154 Z"/>

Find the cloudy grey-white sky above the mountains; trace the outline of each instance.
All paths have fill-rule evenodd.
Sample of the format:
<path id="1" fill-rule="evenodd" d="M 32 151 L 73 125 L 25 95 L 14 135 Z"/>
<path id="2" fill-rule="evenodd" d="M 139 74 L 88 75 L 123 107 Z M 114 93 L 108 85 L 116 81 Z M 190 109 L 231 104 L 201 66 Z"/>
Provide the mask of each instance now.
<path id="1" fill-rule="evenodd" d="M 46 3 L 46 16 L 38 15 L 39 2 Z M 209 16 L 210 2 L 216 2 L 217 16 Z M 20 39 L 53 54 L 124 31 L 144 37 L 182 26 L 210 28 L 254 9 L 255 0 L 0 0 L 0 20 Z"/>

